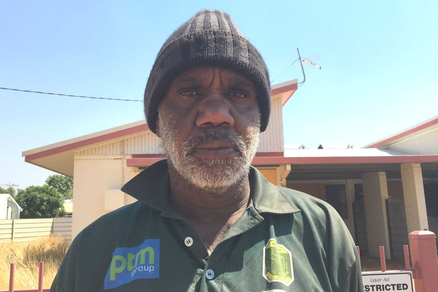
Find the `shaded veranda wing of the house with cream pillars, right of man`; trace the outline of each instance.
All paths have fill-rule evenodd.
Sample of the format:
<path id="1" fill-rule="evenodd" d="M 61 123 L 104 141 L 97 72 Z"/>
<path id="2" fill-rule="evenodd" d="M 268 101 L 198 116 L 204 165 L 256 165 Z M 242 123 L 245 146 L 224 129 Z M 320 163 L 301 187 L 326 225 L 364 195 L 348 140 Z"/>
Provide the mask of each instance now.
<path id="1" fill-rule="evenodd" d="M 287 186 L 333 205 L 361 252 L 403 258 L 410 232 L 438 233 L 437 141 L 438 116 L 360 149 L 286 149 L 281 162 Z"/>

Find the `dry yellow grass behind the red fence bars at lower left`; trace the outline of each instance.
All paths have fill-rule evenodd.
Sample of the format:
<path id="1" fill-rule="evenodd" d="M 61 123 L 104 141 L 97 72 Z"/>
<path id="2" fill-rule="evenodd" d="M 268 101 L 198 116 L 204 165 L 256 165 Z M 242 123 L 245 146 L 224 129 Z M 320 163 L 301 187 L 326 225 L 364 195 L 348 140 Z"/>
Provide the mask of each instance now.
<path id="1" fill-rule="evenodd" d="M 70 242 L 42 237 L 31 242 L 0 243 L 0 290 L 9 289 L 9 269 L 15 263 L 14 289 L 38 288 L 39 262 L 44 262 L 44 288 L 49 288 Z"/>

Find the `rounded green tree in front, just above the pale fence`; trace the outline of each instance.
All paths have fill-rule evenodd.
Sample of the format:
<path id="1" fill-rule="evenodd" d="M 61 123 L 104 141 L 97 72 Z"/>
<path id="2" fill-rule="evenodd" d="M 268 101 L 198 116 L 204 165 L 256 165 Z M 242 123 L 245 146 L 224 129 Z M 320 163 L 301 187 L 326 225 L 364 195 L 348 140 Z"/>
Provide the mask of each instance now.
<path id="1" fill-rule="evenodd" d="M 47 184 L 19 189 L 15 201 L 23 209 L 21 218 L 53 218 L 66 214 L 64 198 L 56 188 Z"/>

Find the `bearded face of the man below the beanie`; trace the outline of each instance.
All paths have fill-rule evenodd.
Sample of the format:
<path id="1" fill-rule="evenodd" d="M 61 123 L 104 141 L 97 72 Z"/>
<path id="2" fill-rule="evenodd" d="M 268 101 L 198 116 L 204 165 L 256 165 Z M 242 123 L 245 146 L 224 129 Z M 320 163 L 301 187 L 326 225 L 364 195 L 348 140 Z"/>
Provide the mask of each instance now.
<path id="1" fill-rule="evenodd" d="M 201 188 L 225 189 L 248 174 L 259 145 L 256 89 L 232 70 L 184 71 L 160 104 L 157 134 L 181 177 Z"/>

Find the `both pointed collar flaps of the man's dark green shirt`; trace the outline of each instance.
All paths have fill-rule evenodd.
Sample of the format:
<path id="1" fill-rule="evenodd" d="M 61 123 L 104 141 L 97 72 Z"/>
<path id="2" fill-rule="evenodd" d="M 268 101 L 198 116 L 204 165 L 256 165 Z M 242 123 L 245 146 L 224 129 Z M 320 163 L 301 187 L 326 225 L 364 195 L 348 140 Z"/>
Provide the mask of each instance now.
<path id="1" fill-rule="evenodd" d="M 249 171 L 249 182 L 252 204 L 259 213 L 290 214 L 300 211 L 281 188 L 269 183 L 255 167 Z M 131 179 L 121 191 L 154 209 L 164 211 L 168 205 L 169 188 L 167 160 L 161 160 Z"/>

